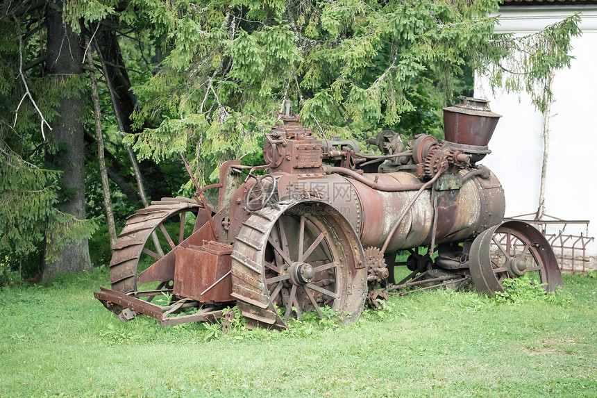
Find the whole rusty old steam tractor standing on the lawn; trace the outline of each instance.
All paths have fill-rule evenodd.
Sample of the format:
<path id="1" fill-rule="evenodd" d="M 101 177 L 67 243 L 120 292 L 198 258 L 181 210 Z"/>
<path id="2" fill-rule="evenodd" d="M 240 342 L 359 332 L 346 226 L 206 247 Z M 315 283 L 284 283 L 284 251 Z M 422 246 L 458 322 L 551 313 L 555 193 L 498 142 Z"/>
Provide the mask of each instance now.
<path id="1" fill-rule="evenodd" d="M 461 97 L 444 108 L 443 142 L 383 131 L 369 140 L 382 154 L 317 139 L 289 104 L 280 117 L 266 134 L 267 165 L 228 161 L 219 183 L 199 188 L 185 160 L 194 199 L 153 201 L 128 218 L 112 251 L 112 290 L 95 293 L 106 308 L 123 322 L 141 313 L 169 325 L 215 322 L 236 304 L 249 327 L 284 329 L 289 317 L 323 308 L 357 320 L 390 290 L 470 279 L 491 295 L 528 272 L 548 291 L 562 285 L 544 236 L 504 222 L 502 186 L 477 164 L 500 117 L 487 101 Z M 205 199 L 212 188 L 217 206 Z M 410 274 L 397 281 L 401 265 Z"/>

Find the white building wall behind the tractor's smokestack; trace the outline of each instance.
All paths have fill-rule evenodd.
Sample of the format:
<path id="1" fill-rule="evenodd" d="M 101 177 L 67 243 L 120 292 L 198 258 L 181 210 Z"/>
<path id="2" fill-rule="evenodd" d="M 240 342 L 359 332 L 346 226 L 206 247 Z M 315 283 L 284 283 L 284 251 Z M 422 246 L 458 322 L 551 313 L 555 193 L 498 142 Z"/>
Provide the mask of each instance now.
<path id="1" fill-rule="evenodd" d="M 580 12 L 582 36 L 573 39 L 570 69 L 555 73 L 549 121 L 545 213 L 562 219 L 588 219 L 597 238 L 597 6 L 517 6 L 501 8 L 496 32 L 526 35 Z M 491 92 L 476 78 L 475 97 L 487 98 L 503 115 L 489 142 L 493 154 L 482 163 L 492 169 L 506 194 L 506 216 L 535 213 L 539 204 L 544 117 L 526 94 Z M 586 234 L 585 226 L 566 233 Z M 597 256 L 597 243 L 587 246 Z M 593 265 L 595 265 L 593 261 Z"/>

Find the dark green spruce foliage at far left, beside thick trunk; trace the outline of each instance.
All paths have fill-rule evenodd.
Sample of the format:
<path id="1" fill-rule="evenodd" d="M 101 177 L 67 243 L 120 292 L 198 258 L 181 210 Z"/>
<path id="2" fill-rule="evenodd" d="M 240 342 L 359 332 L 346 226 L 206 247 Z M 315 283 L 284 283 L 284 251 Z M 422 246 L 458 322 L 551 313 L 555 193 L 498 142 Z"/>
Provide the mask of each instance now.
<path id="1" fill-rule="evenodd" d="M 82 8 L 74 10 L 76 6 Z M 35 18 L 21 24 L 19 19 L 27 15 L 20 13 L 27 11 L 19 7 L 7 4 L 6 14 L 0 15 L 0 252 L 7 258 L 0 267 L 21 270 L 26 277 L 40 272 L 43 261 L 58 260 L 63 248 L 89 238 L 96 220 L 79 220 L 60 210 L 73 191 L 62 186 L 61 174 L 52 164 L 66 149 L 51 131 L 58 107 L 65 99 L 85 101 L 88 78 L 60 71 L 44 74 L 43 65 L 26 67 L 40 56 L 40 42 L 45 47 L 42 40 L 48 33 L 39 19 L 43 13 L 36 11 Z M 67 19 L 88 21 L 92 15 L 101 19 L 113 12 L 105 2 L 70 1 L 65 8 Z M 25 26 L 32 31 L 26 33 Z M 90 117 L 81 115 L 80 122 L 90 122 Z"/>

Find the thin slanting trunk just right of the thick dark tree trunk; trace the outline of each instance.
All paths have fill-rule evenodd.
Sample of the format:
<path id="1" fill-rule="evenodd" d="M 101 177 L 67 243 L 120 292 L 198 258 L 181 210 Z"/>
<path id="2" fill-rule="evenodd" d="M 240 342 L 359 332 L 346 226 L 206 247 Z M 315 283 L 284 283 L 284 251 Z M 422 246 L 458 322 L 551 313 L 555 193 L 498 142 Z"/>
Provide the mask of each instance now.
<path id="1" fill-rule="evenodd" d="M 110 234 L 110 249 L 114 249 L 114 245 L 116 244 L 116 225 L 114 223 L 114 213 L 112 212 L 112 199 L 110 199 L 110 184 L 108 184 L 108 172 L 106 171 L 106 161 L 103 158 L 103 135 L 101 133 L 101 106 L 99 105 L 99 94 L 97 94 L 97 79 L 95 78 L 95 70 L 93 67 L 91 51 L 87 54 L 87 61 L 89 64 L 89 73 L 91 76 L 91 93 L 93 98 L 95 135 L 97 141 L 97 163 L 99 164 L 99 174 L 101 176 L 103 207 L 106 209 L 108 233 Z"/>

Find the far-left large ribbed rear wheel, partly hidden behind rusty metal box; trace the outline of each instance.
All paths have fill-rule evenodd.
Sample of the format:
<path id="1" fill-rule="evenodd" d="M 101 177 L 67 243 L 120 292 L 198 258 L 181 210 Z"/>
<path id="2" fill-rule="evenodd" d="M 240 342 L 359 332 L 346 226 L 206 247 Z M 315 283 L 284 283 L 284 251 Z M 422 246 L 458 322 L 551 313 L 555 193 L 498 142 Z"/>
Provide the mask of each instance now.
<path id="1" fill-rule="evenodd" d="M 192 233 L 193 224 L 190 221 L 194 222 L 194 219 L 187 216 L 192 214 L 193 218 L 196 217 L 199 208 L 199 204 L 193 199 L 163 198 L 161 201 L 152 201 L 151 206 L 137 210 L 137 213 L 129 217 L 112 249 L 112 290 L 122 293 L 139 290 L 137 273 L 160 260 Z M 154 231 L 159 237 L 159 249 L 151 238 Z M 162 285 L 158 290 L 168 287 L 171 288 Z"/>

